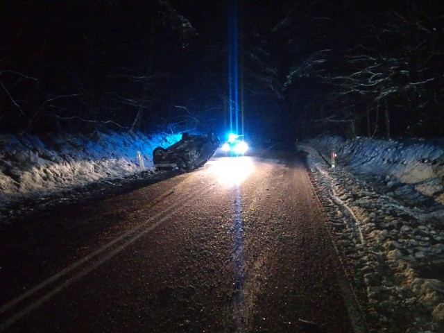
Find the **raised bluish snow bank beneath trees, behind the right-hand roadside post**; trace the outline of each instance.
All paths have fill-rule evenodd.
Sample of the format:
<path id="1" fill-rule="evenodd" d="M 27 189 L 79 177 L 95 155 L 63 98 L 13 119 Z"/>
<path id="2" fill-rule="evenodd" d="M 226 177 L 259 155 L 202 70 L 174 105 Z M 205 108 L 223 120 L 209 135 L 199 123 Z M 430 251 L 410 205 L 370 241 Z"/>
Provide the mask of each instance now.
<path id="1" fill-rule="evenodd" d="M 444 204 L 444 140 L 320 137 L 310 144 L 327 157 L 335 151 L 336 163 L 354 173 L 380 176 L 389 187 L 410 185 Z"/>

